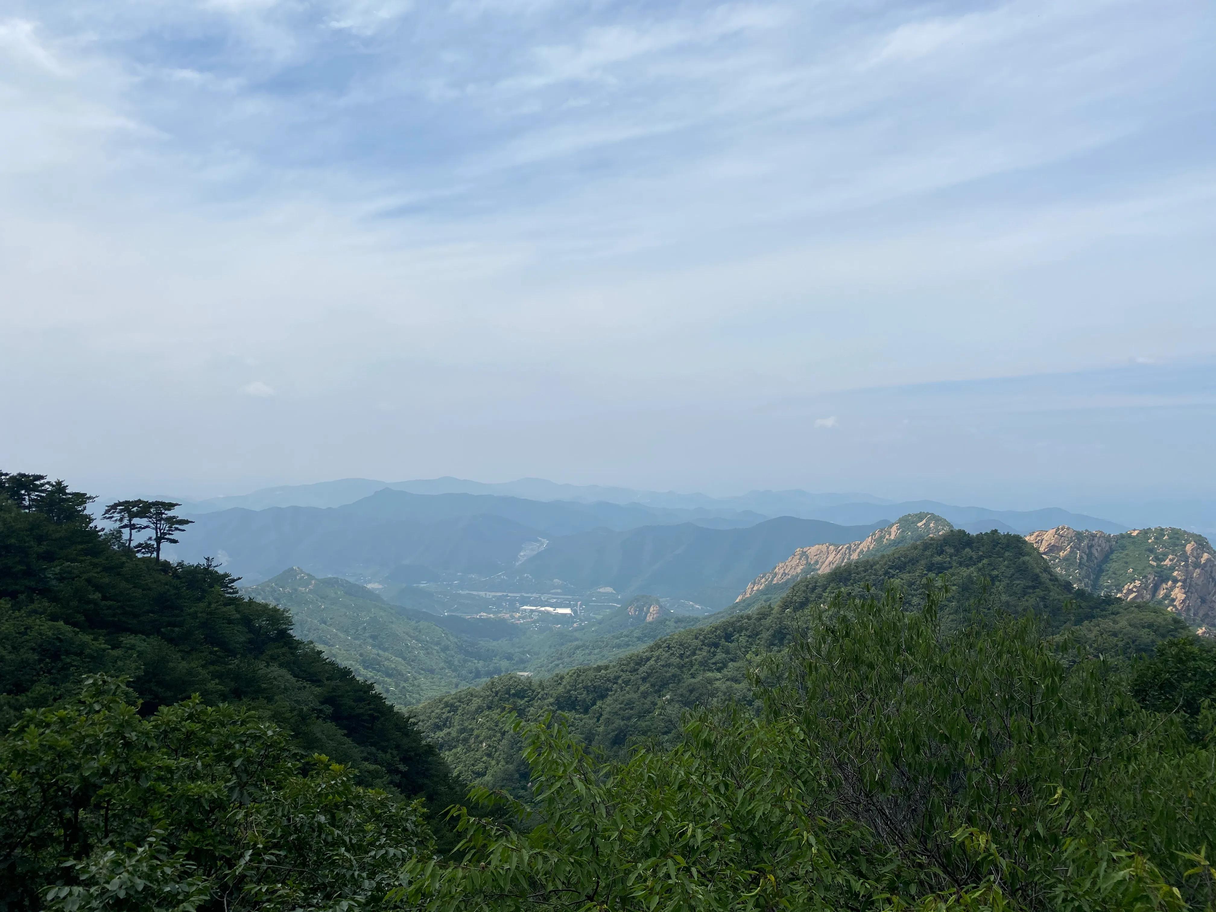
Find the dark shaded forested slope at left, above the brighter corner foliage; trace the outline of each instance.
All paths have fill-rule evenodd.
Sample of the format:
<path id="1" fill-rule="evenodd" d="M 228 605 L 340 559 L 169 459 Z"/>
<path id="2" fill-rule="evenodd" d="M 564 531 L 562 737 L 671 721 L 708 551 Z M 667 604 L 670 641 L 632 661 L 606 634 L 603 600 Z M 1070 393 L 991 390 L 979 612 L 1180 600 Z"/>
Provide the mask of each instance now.
<path id="1" fill-rule="evenodd" d="M 145 714 L 197 693 L 264 714 L 364 782 L 440 807 L 458 798 L 413 724 L 292 636 L 283 610 L 240 596 L 219 570 L 137 557 L 91 525 L 85 495 L 28 482 L 0 474 L 0 727 L 103 671 L 131 679 Z"/>

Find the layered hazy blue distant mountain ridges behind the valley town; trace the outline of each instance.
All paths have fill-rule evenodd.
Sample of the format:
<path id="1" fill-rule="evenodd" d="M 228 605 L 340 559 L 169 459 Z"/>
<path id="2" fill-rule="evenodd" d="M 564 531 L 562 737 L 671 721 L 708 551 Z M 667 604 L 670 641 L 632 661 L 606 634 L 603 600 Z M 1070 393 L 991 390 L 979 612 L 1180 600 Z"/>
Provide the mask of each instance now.
<path id="1" fill-rule="evenodd" d="M 557 494 L 575 499 L 556 500 Z M 614 500 L 595 500 L 602 496 Z M 1026 534 L 1062 524 L 1124 530 L 1054 508 L 857 500 L 865 496 L 756 491 L 715 499 L 540 479 L 486 485 L 440 478 L 392 486 L 343 479 L 188 505 L 203 512 L 193 513 L 173 553 L 214 557 L 247 584 L 299 567 L 387 585 L 387 597 L 409 596 L 426 610 L 477 613 L 495 604 L 500 591 L 579 598 L 603 590 L 649 592 L 703 613 L 731 604 L 749 581 L 798 548 L 860 541 L 907 513 L 933 512 L 969 531 Z M 216 506 L 223 508 L 208 511 Z M 417 590 L 420 584 L 443 584 L 449 599 L 460 593 L 461 604 L 437 606 L 434 591 Z"/>

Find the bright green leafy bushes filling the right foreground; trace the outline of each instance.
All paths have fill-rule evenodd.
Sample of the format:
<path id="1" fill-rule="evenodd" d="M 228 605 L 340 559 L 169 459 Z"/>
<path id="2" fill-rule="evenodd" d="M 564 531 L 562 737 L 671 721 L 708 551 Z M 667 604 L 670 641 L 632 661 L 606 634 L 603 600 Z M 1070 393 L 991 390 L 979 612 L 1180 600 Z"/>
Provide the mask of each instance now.
<path id="1" fill-rule="evenodd" d="M 1211 907 L 1216 765 L 1104 660 L 1031 618 L 942 624 L 834 599 L 761 663 L 758 716 L 702 710 L 668 750 L 590 753 L 516 722 L 523 829 L 461 814 L 402 906 L 461 910 Z"/>

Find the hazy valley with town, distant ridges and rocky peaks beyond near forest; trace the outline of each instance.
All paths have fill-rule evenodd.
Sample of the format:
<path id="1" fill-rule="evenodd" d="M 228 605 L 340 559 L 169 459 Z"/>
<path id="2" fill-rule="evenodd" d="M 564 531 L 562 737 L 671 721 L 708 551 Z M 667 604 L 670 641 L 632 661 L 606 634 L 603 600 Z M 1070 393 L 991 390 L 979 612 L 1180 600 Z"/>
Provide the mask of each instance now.
<path id="1" fill-rule="evenodd" d="M 454 486 L 455 479 L 433 485 L 445 483 Z M 362 492 L 345 485 L 333 496 Z M 303 499 L 317 496 L 309 491 Z M 905 506 L 786 502 L 796 512 L 851 519 Z M 236 506 L 199 513 L 180 553 L 191 559 L 221 556 L 225 569 L 246 578 L 244 595 L 289 612 L 297 636 L 400 706 L 427 704 L 503 675 L 516 683 L 491 689 L 544 689 L 540 681 L 550 675 L 627 663 L 632 659 L 623 657 L 672 635 L 696 637 L 693 629 L 762 613 L 807 576 L 967 529 L 1018 541 L 1019 553 L 1025 552 L 1019 559 L 1041 554 L 1064 586 L 1060 592 L 1071 585 L 1152 602 L 1192 627 L 1216 626 L 1216 559 L 1203 536 L 1120 531 L 1118 524 L 1063 511 L 998 517 L 974 507 L 934 506 L 963 528 L 930 511 L 855 525 L 811 516 L 765 517 L 751 510 L 772 507 L 771 499 L 759 495 L 742 503 L 653 505 L 385 486 L 337 506 Z M 1026 529 L 1035 520 L 1060 518 L 1088 528 Z M 957 562 L 947 563 L 924 574 L 962 573 Z M 888 575 L 874 576 L 872 585 L 895 579 L 883 573 Z M 998 575 L 1008 573 L 1002 568 Z M 908 592 L 923 584 L 906 572 L 896 576 Z M 1045 606 L 1031 601 L 1025 609 L 1058 613 Z M 606 674 L 620 668 L 609 665 Z M 742 687 L 742 676 L 732 680 L 731 687 Z M 676 716 L 676 708 L 694 703 L 669 700 Z M 426 705 L 415 711 L 433 720 L 438 710 Z M 637 719 L 630 719 L 621 724 L 636 727 Z M 434 722 L 426 727 L 437 744 L 455 749 L 449 732 Z"/>

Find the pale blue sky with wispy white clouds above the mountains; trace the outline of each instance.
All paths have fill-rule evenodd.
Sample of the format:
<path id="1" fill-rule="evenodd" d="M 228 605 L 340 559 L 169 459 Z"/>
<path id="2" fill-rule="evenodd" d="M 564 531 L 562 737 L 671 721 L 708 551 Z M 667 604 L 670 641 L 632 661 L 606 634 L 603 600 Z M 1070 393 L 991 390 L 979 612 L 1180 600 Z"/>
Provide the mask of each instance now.
<path id="1" fill-rule="evenodd" d="M 1201 0 L 4 0 L 0 467 L 1216 502 L 1214 41 Z"/>

